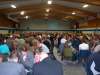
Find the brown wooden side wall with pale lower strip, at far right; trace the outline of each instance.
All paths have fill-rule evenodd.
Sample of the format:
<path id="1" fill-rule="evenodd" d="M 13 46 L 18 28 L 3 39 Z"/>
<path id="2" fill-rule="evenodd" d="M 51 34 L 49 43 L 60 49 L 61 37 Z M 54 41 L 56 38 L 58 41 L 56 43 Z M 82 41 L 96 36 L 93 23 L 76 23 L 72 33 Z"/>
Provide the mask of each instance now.
<path id="1" fill-rule="evenodd" d="M 96 31 L 96 29 L 100 29 L 100 19 L 94 19 L 94 20 L 84 20 L 80 21 L 79 29 L 83 30 L 94 30 L 94 31 L 83 31 L 83 33 L 100 33 L 100 31 Z"/>

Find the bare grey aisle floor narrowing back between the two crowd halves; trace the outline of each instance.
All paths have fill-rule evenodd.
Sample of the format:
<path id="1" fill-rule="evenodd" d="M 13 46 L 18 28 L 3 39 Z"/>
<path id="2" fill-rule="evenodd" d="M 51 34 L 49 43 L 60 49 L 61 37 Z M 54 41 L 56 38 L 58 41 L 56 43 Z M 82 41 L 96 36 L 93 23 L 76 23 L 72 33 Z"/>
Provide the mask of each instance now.
<path id="1" fill-rule="evenodd" d="M 54 55 L 59 60 L 64 69 L 64 75 L 86 75 L 84 68 L 81 65 L 73 64 L 71 61 L 61 61 L 60 56 L 57 54 L 57 49 L 54 48 Z"/>

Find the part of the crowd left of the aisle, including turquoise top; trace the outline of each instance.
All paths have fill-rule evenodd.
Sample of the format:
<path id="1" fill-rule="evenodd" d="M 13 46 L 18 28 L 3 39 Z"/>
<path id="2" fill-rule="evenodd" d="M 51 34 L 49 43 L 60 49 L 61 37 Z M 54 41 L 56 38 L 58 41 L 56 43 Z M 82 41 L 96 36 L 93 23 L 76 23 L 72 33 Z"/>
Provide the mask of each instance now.
<path id="1" fill-rule="evenodd" d="M 53 55 L 53 38 L 18 34 L 0 39 L 0 75 L 63 75 Z"/>

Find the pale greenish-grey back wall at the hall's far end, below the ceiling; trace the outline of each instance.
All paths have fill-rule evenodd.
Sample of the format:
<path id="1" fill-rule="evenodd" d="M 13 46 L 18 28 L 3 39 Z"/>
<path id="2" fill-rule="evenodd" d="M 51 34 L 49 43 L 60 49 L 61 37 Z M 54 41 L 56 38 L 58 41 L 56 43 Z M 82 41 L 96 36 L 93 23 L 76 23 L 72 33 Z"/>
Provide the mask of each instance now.
<path id="1" fill-rule="evenodd" d="M 59 20 L 29 20 L 21 23 L 21 29 L 35 30 L 66 30 L 70 29 L 71 23 Z"/>

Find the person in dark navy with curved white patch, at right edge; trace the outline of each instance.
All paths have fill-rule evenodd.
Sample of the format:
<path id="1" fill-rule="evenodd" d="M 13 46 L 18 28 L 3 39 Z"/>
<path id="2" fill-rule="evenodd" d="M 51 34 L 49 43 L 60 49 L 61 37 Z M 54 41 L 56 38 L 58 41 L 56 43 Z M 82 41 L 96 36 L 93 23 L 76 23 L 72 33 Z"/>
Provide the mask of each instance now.
<path id="1" fill-rule="evenodd" d="M 87 75 L 100 75 L 100 45 L 95 47 L 94 53 L 85 64 Z"/>

